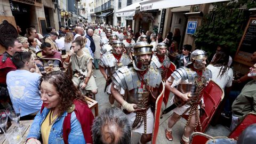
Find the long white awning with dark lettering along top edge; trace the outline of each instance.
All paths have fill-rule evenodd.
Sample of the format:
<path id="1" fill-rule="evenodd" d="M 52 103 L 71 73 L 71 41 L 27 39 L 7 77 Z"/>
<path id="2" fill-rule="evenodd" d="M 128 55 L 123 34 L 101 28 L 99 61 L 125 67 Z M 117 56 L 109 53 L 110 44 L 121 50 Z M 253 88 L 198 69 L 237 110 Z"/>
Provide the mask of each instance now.
<path id="1" fill-rule="evenodd" d="M 166 9 L 170 7 L 223 2 L 230 0 L 146 0 L 140 2 L 140 11 Z"/>

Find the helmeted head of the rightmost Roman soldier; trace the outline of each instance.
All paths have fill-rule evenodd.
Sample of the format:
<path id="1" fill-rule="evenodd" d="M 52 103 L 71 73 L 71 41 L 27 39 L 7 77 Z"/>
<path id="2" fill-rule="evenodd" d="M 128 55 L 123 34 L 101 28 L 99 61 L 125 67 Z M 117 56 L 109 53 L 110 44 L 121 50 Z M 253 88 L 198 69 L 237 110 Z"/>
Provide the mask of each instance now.
<path id="1" fill-rule="evenodd" d="M 194 68 L 196 69 L 201 69 L 201 70 L 205 69 L 205 63 L 203 63 L 203 61 L 206 59 L 207 59 L 207 52 L 203 50 L 195 50 L 191 52 L 190 61 L 193 62 Z"/>

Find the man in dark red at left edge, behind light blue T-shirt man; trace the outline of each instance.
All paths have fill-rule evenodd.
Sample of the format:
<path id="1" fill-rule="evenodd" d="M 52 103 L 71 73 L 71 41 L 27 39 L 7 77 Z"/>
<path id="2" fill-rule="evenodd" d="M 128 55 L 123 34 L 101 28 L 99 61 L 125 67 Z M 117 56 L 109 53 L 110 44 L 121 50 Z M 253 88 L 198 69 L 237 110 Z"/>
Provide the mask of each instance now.
<path id="1" fill-rule="evenodd" d="M 9 106 L 9 93 L 6 89 L 6 75 L 9 71 L 16 70 L 16 66 L 12 62 L 15 52 L 21 51 L 22 44 L 18 39 L 9 38 L 5 41 L 5 52 L 0 54 L 0 102 L 5 108 Z M 0 106 L 1 107 L 1 106 Z"/>

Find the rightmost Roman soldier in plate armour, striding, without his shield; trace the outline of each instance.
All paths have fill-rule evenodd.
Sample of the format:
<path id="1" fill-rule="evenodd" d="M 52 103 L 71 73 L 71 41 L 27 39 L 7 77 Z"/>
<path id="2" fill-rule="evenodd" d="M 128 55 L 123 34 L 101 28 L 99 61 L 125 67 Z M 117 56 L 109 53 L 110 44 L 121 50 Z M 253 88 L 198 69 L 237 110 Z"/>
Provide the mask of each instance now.
<path id="1" fill-rule="evenodd" d="M 205 51 L 193 51 L 190 59 L 188 67 L 180 67 L 173 71 L 165 83 L 166 89 L 174 94 L 170 106 L 173 107 L 173 114 L 166 127 L 165 136 L 171 141 L 172 127 L 181 116 L 188 115 L 185 132 L 180 141 L 186 144 L 189 142 L 190 135 L 196 131 L 197 125 L 201 127 L 199 108 L 204 108 L 203 90 L 212 77 L 211 70 L 205 67 L 207 60 Z"/>

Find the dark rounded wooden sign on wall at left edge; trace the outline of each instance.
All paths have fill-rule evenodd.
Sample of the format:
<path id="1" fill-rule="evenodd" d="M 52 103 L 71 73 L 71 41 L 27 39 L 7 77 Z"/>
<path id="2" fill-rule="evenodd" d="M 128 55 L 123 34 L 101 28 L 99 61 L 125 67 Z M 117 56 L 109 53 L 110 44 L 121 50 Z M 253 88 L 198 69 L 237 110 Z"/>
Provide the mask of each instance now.
<path id="1" fill-rule="evenodd" d="M 3 23 L 0 25 L 0 44 L 5 45 L 5 39 L 17 37 L 18 32 L 16 28 L 7 20 L 3 20 Z"/>

